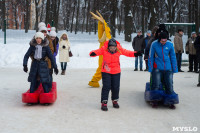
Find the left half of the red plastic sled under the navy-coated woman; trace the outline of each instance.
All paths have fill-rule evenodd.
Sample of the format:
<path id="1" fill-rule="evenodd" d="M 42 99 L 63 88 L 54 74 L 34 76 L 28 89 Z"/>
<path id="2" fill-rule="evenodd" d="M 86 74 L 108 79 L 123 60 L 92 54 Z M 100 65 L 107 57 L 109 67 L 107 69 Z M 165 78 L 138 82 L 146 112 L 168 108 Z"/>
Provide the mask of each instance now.
<path id="1" fill-rule="evenodd" d="M 30 93 L 30 89 L 22 93 L 22 102 L 23 103 L 39 103 L 39 96 L 42 92 L 42 85 L 40 84 L 38 89 L 34 93 Z"/>

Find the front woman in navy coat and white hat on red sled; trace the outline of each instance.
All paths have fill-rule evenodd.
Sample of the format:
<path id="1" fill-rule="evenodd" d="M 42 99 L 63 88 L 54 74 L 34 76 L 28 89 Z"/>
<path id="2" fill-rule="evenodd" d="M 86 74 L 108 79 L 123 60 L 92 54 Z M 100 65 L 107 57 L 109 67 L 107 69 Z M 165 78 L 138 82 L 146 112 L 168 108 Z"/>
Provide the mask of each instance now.
<path id="1" fill-rule="evenodd" d="M 49 57 L 52 62 L 55 74 L 58 74 L 56 62 L 53 54 L 48 46 L 48 40 L 44 38 L 44 34 L 37 32 L 35 37 L 30 42 L 30 47 L 24 56 L 23 66 L 24 71 L 28 71 L 27 62 L 30 55 L 33 55 L 33 62 L 28 77 L 28 82 L 31 82 L 30 93 L 33 93 L 36 88 L 38 80 L 42 83 L 45 93 L 49 92 L 48 83 L 50 82 L 50 75 L 48 64 L 45 61 L 45 57 Z"/>

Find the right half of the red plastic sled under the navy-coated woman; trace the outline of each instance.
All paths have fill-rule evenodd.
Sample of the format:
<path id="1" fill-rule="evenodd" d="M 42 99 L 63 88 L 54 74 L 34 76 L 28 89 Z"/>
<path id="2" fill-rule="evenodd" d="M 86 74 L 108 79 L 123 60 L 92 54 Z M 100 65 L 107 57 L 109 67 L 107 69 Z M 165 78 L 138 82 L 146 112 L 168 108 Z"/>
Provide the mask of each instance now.
<path id="1" fill-rule="evenodd" d="M 57 99 L 57 89 L 56 89 L 56 82 L 52 83 L 52 89 L 49 93 L 44 93 L 43 89 L 39 96 L 39 102 L 41 104 L 49 104 L 54 103 Z"/>

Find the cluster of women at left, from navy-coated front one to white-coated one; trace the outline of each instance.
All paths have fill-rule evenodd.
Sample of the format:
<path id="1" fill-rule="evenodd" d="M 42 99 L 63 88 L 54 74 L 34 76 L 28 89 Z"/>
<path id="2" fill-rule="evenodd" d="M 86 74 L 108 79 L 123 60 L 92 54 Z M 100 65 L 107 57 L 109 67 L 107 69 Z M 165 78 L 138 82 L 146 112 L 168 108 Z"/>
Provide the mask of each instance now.
<path id="1" fill-rule="evenodd" d="M 56 56 L 59 51 L 59 62 L 61 63 L 61 75 L 65 75 L 67 62 L 69 62 L 70 43 L 67 33 L 63 33 L 58 39 L 55 27 L 48 33 L 46 24 L 41 22 L 38 25 L 37 32 L 30 41 L 30 47 L 23 60 L 23 70 L 28 71 L 27 63 L 29 57 L 32 59 L 28 81 L 31 82 L 30 93 L 42 83 L 44 93 L 52 89 L 53 69 L 58 74 L 56 65 Z"/>

